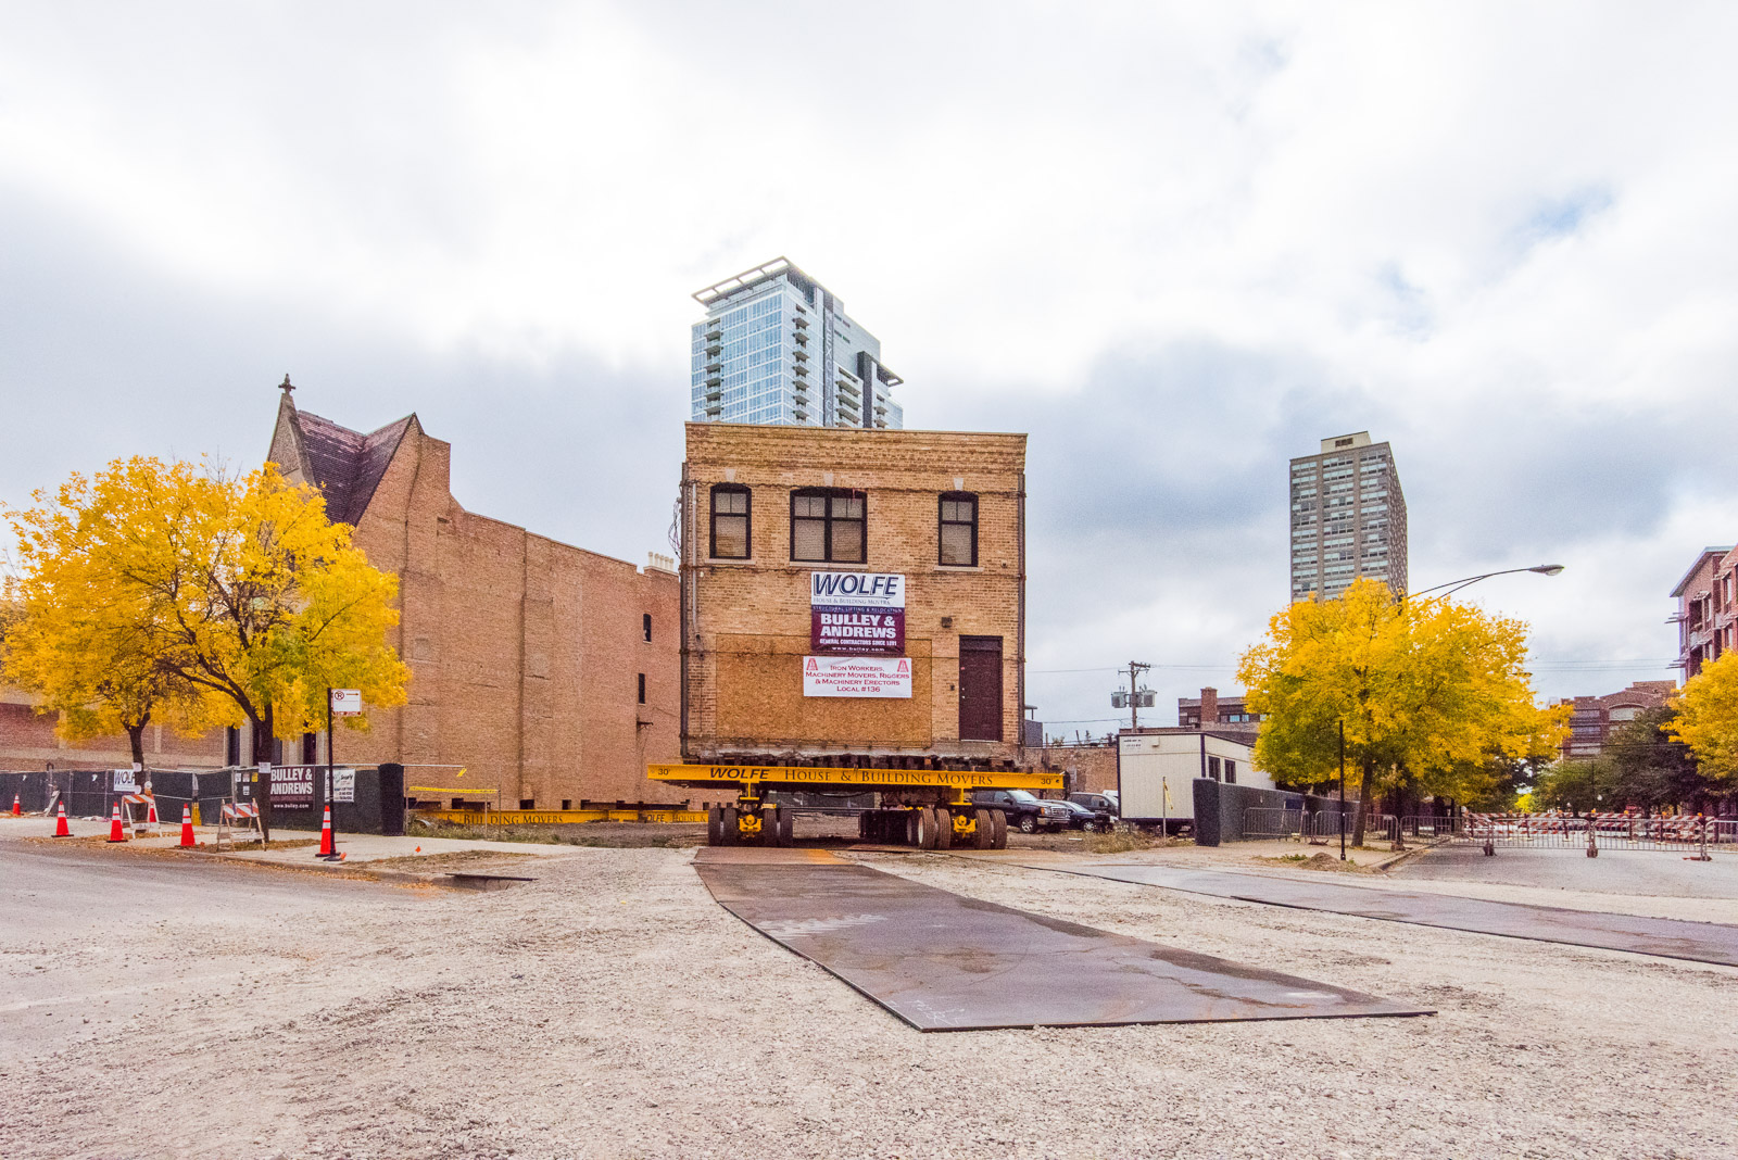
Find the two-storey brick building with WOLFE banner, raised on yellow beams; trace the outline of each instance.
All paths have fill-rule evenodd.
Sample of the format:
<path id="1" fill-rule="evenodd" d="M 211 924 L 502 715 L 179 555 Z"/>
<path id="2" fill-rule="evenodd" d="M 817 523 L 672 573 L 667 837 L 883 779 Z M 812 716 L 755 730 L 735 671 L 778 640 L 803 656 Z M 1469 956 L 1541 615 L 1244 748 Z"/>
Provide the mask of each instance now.
<path id="1" fill-rule="evenodd" d="M 1018 762 L 1024 434 L 688 424 L 687 448 L 690 762 Z"/>

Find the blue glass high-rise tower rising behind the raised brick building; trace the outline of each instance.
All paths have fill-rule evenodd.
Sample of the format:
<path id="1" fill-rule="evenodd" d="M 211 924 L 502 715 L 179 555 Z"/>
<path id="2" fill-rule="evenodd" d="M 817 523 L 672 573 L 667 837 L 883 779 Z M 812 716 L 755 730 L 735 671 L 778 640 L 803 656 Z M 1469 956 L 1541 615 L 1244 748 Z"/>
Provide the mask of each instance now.
<path id="1" fill-rule="evenodd" d="M 831 290 L 779 257 L 695 292 L 697 424 L 905 425 L 881 342 Z"/>

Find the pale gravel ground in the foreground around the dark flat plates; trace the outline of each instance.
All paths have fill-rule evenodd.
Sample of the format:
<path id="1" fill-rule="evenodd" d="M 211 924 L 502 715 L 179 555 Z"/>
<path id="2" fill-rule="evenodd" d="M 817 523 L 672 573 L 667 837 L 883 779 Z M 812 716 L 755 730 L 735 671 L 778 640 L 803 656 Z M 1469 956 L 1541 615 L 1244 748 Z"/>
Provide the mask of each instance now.
<path id="1" fill-rule="evenodd" d="M 474 894 L 0 840 L 0 1155 L 1738 1155 L 1733 969 L 864 854 L 1441 1011 L 921 1035 L 690 858 Z"/>

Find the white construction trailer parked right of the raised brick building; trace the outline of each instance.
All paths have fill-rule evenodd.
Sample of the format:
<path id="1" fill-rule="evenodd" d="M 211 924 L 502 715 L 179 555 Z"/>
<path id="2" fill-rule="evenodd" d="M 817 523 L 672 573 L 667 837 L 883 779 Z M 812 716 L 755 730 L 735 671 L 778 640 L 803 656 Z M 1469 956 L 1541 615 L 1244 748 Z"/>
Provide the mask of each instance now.
<path id="1" fill-rule="evenodd" d="M 1118 736 L 1116 783 L 1123 821 L 1175 832 L 1194 825 L 1194 781 L 1274 788 L 1255 768 L 1255 750 L 1237 735 L 1210 729 L 1124 729 Z"/>

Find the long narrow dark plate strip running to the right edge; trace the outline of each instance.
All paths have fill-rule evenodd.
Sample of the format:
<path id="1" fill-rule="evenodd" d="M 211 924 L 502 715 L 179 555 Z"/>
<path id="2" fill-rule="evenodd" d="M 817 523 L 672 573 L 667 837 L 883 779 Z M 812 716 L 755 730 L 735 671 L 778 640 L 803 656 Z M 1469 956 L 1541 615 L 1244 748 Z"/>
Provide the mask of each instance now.
<path id="1" fill-rule="evenodd" d="M 1483 854 L 1479 854 L 1483 858 Z M 1079 873 L 1112 882 L 1161 886 L 1191 894 L 1234 898 L 1272 906 L 1323 910 L 1328 913 L 1411 922 L 1416 926 L 1529 938 L 1571 946 L 1625 950 L 1663 959 L 1693 959 L 1738 967 L 1738 927 L 1682 919 L 1644 919 L 1639 915 L 1529 906 L 1453 894 L 1416 894 L 1410 891 L 1343 886 L 1338 882 L 1298 882 L 1257 873 L 1224 870 L 1177 870 L 1152 865 L 1048 863 L 1034 870 Z"/>

